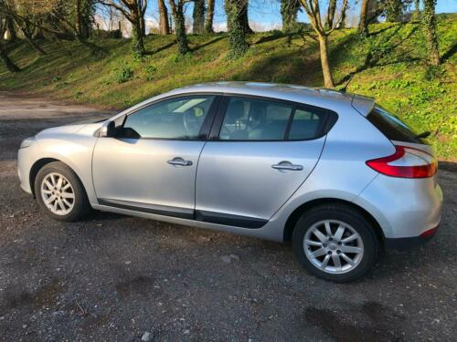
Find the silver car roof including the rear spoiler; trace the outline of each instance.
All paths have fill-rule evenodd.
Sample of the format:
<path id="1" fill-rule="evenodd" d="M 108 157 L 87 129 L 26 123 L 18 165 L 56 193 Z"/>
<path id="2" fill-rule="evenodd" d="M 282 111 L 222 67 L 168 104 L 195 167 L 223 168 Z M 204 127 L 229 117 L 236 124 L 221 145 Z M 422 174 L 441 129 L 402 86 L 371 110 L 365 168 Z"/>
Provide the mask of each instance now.
<path id="1" fill-rule="evenodd" d="M 344 106 L 352 106 L 363 115 L 373 108 L 375 100 L 335 89 L 309 88 L 293 84 L 262 82 L 210 82 L 177 88 L 166 95 L 188 93 L 222 93 L 233 95 L 260 96 L 299 102 L 324 109 L 340 111 Z"/>

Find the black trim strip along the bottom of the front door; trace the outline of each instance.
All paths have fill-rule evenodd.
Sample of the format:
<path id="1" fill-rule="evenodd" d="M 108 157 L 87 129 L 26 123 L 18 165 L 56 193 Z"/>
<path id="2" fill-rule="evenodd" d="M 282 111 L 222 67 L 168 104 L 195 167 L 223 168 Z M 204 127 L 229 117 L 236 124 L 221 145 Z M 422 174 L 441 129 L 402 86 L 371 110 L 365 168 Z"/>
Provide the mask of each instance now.
<path id="1" fill-rule="evenodd" d="M 127 209 L 133 212 L 148 212 L 148 213 L 155 213 L 157 215 L 164 215 L 164 216 L 173 216 L 178 217 L 180 219 L 187 219 L 187 220 L 194 220 L 194 213 L 191 210 L 181 209 L 181 208 L 174 208 L 174 207 L 154 207 L 151 204 L 147 203 L 137 203 L 137 202 L 121 202 L 121 201 L 111 201 L 106 199 L 98 199 L 99 204 L 106 205 L 109 207 L 120 208 L 120 209 Z M 164 209 L 162 209 L 164 208 Z M 169 208 L 169 209 L 168 209 Z"/>

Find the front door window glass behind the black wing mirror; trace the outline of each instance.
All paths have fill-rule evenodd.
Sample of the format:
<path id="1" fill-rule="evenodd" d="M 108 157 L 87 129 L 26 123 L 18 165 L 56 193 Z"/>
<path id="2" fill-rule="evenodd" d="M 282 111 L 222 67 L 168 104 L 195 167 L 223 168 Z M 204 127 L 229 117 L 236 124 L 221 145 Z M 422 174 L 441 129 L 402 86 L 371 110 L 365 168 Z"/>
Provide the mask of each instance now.
<path id="1" fill-rule="evenodd" d="M 127 116 L 122 131 L 138 138 L 198 139 L 214 98 L 194 95 L 165 99 Z"/>

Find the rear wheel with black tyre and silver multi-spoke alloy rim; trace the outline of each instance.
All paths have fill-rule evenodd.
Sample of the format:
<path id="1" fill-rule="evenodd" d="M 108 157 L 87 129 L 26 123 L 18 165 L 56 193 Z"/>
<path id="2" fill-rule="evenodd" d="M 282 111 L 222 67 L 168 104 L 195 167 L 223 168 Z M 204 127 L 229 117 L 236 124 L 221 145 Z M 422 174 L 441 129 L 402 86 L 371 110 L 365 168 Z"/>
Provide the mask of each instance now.
<path id="1" fill-rule="evenodd" d="M 292 245 L 309 272 L 337 283 L 366 275 L 378 252 L 373 224 L 356 208 L 340 203 L 304 212 L 293 230 Z"/>

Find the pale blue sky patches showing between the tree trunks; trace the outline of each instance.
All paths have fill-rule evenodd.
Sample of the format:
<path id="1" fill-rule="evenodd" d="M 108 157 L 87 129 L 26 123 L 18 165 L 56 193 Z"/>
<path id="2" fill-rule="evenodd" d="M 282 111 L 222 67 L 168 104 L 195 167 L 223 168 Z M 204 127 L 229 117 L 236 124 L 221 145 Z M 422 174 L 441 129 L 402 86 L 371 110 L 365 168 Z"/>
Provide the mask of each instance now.
<path id="1" fill-rule="evenodd" d="M 322 0 L 321 3 L 325 4 L 327 1 Z M 151 23 L 158 21 L 157 14 L 157 0 L 149 0 L 146 17 Z M 165 1 L 167 3 L 167 1 Z M 359 7 L 354 5 L 355 0 L 349 0 L 350 11 L 348 13 L 348 21 L 355 22 L 358 15 Z M 358 1 L 360 3 L 360 1 Z M 271 30 L 273 28 L 281 27 L 281 14 L 280 14 L 280 0 L 250 0 L 249 19 L 250 25 L 256 31 Z M 324 6 L 326 8 L 326 6 Z M 186 5 L 186 17 L 192 17 L 193 4 Z M 437 13 L 454 13 L 457 12 L 457 0 L 438 0 Z M 308 19 L 305 14 L 299 13 L 299 21 L 307 22 Z M 214 24 L 216 30 L 224 30 L 226 23 L 226 16 L 224 13 L 224 0 L 216 0 L 216 14 Z"/>

